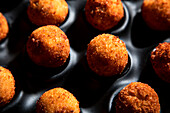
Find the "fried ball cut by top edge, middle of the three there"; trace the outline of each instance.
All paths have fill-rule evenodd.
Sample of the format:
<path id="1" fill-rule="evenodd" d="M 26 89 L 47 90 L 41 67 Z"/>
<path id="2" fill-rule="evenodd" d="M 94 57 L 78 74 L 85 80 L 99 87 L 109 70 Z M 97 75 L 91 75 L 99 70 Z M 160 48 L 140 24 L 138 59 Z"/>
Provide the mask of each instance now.
<path id="1" fill-rule="evenodd" d="M 87 0 L 85 15 L 94 28 L 106 31 L 119 23 L 124 10 L 121 0 Z"/>

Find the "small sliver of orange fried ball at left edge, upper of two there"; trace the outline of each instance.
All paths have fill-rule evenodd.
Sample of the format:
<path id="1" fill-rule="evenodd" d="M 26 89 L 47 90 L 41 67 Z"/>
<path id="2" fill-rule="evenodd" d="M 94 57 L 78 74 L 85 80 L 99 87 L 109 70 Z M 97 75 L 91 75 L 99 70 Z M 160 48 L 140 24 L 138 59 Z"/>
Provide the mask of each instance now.
<path id="1" fill-rule="evenodd" d="M 0 12 L 0 41 L 6 38 L 9 32 L 8 22 L 3 14 Z"/>

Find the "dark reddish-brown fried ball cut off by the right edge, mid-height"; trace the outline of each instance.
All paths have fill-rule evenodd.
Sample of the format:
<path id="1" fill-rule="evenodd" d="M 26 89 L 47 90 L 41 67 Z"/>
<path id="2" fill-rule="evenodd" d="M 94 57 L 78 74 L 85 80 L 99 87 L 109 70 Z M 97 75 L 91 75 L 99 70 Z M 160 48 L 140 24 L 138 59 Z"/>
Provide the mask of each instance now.
<path id="1" fill-rule="evenodd" d="M 170 83 L 170 43 L 164 42 L 151 52 L 151 63 L 156 74 Z"/>

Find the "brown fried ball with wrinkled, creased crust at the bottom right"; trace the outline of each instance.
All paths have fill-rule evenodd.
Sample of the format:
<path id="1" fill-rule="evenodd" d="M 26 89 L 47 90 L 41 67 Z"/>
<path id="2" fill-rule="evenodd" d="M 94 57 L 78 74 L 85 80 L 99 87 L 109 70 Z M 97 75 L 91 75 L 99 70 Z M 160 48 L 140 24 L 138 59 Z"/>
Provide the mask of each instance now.
<path id="1" fill-rule="evenodd" d="M 148 84 L 132 82 L 118 94 L 116 113 L 160 113 L 159 97 Z"/>

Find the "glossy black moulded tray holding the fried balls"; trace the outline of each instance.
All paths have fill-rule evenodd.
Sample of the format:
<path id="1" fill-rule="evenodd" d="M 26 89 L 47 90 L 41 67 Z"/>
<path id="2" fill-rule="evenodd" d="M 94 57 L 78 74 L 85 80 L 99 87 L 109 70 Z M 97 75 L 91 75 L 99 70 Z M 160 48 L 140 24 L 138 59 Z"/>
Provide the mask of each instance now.
<path id="1" fill-rule="evenodd" d="M 170 113 L 170 84 L 158 78 L 150 63 L 151 51 L 159 43 L 170 42 L 170 32 L 148 28 L 141 16 L 143 0 L 122 0 L 124 18 L 113 29 L 104 32 L 86 21 L 86 0 L 66 1 L 69 14 L 60 28 L 70 41 L 70 56 L 63 66 L 53 69 L 35 65 L 25 50 L 29 35 L 38 28 L 27 17 L 29 0 L 5 0 L 0 5 L 9 24 L 8 36 L 0 43 L 0 65 L 8 68 L 16 81 L 14 98 L 1 107 L 0 112 L 35 113 L 36 101 L 45 91 L 63 87 L 80 102 L 81 113 L 115 113 L 119 91 L 139 81 L 149 84 L 158 93 L 161 113 Z M 121 75 L 99 77 L 88 67 L 87 44 L 102 33 L 119 36 L 126 44 L 129 61 Z"/>

